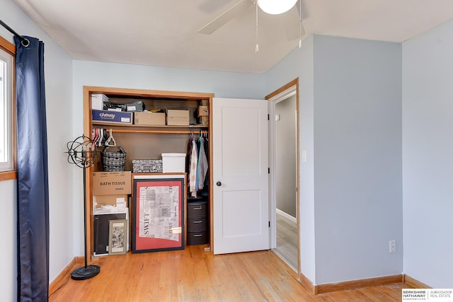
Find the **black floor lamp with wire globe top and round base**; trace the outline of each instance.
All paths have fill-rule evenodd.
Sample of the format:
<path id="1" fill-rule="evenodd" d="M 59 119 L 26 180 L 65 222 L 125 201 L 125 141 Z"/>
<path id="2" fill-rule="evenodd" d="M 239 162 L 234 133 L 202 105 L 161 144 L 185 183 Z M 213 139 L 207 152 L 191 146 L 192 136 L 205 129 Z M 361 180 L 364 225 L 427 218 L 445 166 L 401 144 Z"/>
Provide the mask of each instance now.
<path id="1" fill-rule="evenodd" d="M 78 139 L 81 139 L 82 142 L 77 141 Z M 71 272 L 71 279 L 74 280 L 86 280 L 93 278 L 101 272 L 101 267 L 98 265 L 88 265 L 88 250 L 86 247 L 86 168 L 91 167 L 93 165 L 92 159 L 96 157 L 96 147 L 93 151 L 86 151 L 86 143 L 92 144 L 92 141 L 89 137 L 85 137 L 82 135 L 81 137 L 78 137 L 74 141 L 70 141 L 68 143 L 68 162 L 69 158 L 71 158 L 72 163 L 76 164 L 78 167 L 84 169 L 84 245 L 85 245 L 85 266 L 84 267 L 79 267 L 78 269 L 74 269 L 74 271 Z M 71 144 L 71 148 L 69 147 L 69 144 Z M 74 145 L 82 146 L 83 151 L 76 151 L 73 149 Z M 81 157 L 77 157 L 77 153 L 81 153 Z M 93 156 L 94 153 L 94 156 Z M 90 161 L 91 159 L 91 161 Z"/>

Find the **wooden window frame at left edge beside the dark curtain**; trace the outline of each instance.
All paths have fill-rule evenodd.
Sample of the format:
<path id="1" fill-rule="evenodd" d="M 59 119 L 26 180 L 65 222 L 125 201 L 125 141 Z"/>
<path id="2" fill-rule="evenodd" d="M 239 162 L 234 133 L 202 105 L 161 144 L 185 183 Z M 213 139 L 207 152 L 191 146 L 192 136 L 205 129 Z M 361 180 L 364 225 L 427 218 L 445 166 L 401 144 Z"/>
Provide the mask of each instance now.
<path id="1" fill-rule="evenodd" d="M 11 137 L 11 144 L 13 147 L 12 151 L 12 169 L 0 171 L 0 181 L 3 180 L 13 180 L 17 179 L 17 170 L 16 170 L 16 47 L 8 40 L 4 39 L 4 37 L 0 36 L 0 49 L 6 52 L 7 54 L 11 54 L 12 56 L 12 83 L 13 86 L 11 87 L 11 97 L 12 97 L 12 114 L 11 114 L 11 127 L 12 127 L 12 137 Z"/>

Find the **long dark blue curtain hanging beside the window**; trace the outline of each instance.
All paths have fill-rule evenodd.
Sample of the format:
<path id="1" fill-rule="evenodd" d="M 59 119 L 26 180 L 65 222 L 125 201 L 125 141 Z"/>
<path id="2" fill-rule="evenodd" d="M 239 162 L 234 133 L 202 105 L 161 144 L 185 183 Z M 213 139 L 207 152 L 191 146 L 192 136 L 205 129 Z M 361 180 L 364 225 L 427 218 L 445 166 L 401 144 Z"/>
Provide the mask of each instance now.
<path id="1" fill-rule="evenodd" d="M 16 42 L 18 301 L 49 294 L 49 185 L 44 43 Z"/>

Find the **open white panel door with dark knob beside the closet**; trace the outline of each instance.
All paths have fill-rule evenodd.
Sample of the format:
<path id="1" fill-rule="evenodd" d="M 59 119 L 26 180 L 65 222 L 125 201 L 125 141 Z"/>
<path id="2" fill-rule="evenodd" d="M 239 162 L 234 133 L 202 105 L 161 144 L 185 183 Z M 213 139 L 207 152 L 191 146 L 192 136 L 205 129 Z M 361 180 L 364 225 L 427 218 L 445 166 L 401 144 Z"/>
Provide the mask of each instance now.
<path id="1" fill-rule="evenodd" d="M 268 102 L 212 107 L 214 254 L 268 250 Z"/>

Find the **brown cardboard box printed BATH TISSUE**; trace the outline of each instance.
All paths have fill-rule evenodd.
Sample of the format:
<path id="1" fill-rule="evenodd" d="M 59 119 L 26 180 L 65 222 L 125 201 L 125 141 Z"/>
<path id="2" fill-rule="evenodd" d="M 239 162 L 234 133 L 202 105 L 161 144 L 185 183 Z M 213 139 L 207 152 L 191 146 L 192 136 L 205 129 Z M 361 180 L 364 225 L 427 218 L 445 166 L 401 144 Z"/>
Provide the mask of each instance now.
<path id="1" fill-rule="evenodd" d="M 93 195 L 131 194 L 130 171 L 93 172 Z"/>

